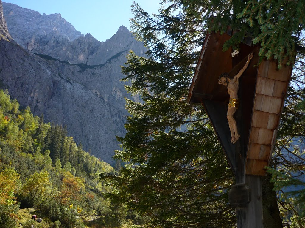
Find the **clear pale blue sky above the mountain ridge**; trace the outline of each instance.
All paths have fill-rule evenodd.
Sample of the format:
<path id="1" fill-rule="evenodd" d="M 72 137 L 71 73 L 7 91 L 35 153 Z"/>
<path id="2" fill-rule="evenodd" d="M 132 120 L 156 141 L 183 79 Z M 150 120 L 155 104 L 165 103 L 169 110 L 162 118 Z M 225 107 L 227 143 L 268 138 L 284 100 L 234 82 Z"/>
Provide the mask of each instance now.
<path id="1" fill-rule="evenodd" d="M 130 30 L 132 0 L 2 0 L 43 14 L 60 13 L 77 31 L 99 41 L 113 36 L 121 25 Z M 160 0 L 135 0 L 148 13 L 157 13 Z"/>

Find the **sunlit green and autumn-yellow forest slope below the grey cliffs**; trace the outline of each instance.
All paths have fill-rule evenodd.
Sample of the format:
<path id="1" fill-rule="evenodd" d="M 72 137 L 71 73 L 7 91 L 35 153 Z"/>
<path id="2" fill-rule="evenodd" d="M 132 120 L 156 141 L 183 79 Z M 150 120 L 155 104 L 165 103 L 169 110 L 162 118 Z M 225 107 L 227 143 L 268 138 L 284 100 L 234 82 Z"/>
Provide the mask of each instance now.
<path id="1" fill-rule="evenodd" d="M 97 174 L 116 172 L 82 150 L 81 143 L 77 146 L 64 127 L 44 123 L 28 107 L 20 110 L 17 100 L 0 90 L 0 227 L 139 223 L 124 205 L 103 196 L 111 189 Z M 22 218 L 23 208 L 35 210 Z M 31 219 L 34 213 L 43 218 L 41 223 Z"/>

